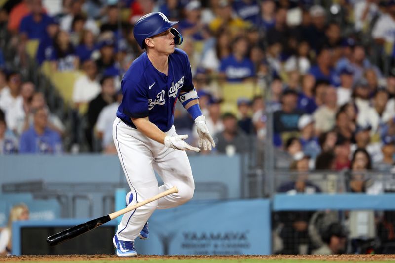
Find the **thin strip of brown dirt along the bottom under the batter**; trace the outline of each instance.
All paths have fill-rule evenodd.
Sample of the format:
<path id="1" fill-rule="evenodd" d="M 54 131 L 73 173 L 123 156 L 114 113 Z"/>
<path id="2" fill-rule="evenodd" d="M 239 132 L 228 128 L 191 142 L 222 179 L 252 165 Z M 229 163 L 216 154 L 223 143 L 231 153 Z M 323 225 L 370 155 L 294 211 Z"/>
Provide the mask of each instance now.
<path id="1" fill-rule="evenodd" d="M 395 261 L 395 255 L 271 255 L 271 256 L 157 256 L 139 255 L 139 259 L 295 259 L 327 261 Z M 115 255 L 43 255 L 43 256 L 0 256 L 0 262 L 15 261 L 95 261 L 95 260 L 130 260 Z"/>

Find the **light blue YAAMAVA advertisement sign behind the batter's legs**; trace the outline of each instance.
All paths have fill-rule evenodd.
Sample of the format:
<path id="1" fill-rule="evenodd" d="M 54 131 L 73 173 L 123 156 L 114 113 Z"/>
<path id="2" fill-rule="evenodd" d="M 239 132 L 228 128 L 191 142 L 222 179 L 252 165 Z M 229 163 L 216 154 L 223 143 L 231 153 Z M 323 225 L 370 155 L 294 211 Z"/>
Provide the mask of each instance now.
<path id="1" fill-rule="evenodd" d="M 139 254 L 270 254 L 269 200 L 193 201 L 156 210 L 150 237 L 136 239 Z"/>

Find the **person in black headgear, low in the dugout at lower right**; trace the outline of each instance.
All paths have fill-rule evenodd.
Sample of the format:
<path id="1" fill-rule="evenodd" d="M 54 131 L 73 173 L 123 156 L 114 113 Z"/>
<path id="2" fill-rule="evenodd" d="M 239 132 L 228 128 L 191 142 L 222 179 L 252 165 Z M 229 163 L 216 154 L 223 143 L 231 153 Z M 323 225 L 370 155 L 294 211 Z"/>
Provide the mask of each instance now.
<path id="1" fill-rule="evenodd" d="M 313 255 L 337 255 L 346 252 L 347 231 L 340 223 L 332 223 L 321 235 L 324 245 L 312 252 Z"/>

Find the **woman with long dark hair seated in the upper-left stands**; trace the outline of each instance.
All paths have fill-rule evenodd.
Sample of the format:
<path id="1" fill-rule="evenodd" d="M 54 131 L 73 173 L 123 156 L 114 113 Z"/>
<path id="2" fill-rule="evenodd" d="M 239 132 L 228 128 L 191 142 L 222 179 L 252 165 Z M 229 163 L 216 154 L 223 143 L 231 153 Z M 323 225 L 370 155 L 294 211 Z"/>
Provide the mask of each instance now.
<path id="1" fill-rule="evenodd" d="M 66 31 L 56 33 L 50 60 L 54 71 L 73 71 L 79 68 L 78 57 Z"/>

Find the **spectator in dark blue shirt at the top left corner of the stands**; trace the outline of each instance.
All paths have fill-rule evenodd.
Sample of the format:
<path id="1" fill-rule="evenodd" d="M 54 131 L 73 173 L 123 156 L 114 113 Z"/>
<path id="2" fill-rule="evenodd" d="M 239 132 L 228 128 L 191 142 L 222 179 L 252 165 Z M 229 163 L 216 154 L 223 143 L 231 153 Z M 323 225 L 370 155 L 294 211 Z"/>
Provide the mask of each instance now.
<path id="1" fill-rule="evenodd" d="M 31 13 L 25 16 L 19 25 L 19 33 L 22 40 L 47 38 L 47 26 L 52 18 L 44 13 L 42 0 L 32 0 Z"/>

